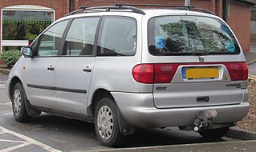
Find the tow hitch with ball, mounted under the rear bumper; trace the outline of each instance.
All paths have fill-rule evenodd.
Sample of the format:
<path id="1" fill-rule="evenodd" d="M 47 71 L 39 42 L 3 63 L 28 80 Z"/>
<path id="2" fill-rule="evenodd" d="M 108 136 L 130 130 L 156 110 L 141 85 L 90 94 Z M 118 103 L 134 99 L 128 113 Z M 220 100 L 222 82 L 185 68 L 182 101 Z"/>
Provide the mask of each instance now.
<path id="1" fill-rule="evenodd" d="M 193 130 L 199 131 L 202 127 L 213 125 L 213 118 L 217 116 L 217 110 L 205 110 L 197 112 L 197 119 L 193 122 Z"/>

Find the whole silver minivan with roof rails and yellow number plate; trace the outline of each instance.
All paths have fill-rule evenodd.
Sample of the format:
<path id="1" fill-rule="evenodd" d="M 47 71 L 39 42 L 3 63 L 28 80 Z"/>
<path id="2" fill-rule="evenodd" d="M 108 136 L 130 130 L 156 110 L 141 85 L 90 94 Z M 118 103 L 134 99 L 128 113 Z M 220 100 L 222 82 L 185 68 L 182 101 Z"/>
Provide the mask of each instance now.
<path id="1" fill-rule="evenodd" d="M 221 138 L 248 112 L 247 77 L 238 39 L 211 12 L 114 5 L 54 22 L 22 48 L 6 88 L 16 121 L 94 122 L 104 146 L 119 146 L 136 128 Z"/>

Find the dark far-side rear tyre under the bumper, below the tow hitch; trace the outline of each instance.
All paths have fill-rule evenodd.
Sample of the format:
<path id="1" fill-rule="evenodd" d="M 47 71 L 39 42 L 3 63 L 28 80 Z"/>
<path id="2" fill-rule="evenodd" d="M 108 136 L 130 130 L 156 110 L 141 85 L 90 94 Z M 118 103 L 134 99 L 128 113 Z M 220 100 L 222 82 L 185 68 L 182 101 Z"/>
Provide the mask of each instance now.
<path id="1" fill-rule="evenodd" d="M 224 127 L 224 128 L 217 128 L 217 129 L 213 129 L 213 130 L 201 130 L 199 131 L 199 134 L 201 134 L 201 136 L 203 138 L 221 138 L 223 136 L 225 136 L 228 131 L 230 130 L 230 127 Z"/>

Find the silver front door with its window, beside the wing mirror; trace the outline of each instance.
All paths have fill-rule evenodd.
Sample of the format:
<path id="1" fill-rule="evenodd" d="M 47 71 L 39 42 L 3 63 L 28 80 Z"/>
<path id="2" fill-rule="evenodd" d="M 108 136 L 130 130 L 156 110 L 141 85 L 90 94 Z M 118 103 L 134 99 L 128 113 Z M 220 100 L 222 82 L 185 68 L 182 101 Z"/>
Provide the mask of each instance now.
<path id="1" fill-rule="evenodd" d="M 55 106 L 55 66 L 67 22 L 58 22 L 41 34 L 33 58 L 26 58 L 26 95 L 34 106 Z"/>

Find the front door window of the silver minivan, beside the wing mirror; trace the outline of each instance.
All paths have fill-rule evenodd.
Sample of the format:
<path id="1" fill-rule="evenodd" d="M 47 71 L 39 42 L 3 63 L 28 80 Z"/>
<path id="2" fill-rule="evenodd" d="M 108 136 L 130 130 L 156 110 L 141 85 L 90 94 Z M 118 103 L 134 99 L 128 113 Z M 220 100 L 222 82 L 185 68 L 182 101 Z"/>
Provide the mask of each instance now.
<path id="1" fill-rule="evenodd" d="M 40 36 L 37 56 L 56 56 L 58 54 L 59 43 L 67 26 L 67 22 L 68 20 L 51 26 L 50 29 Z"/>

